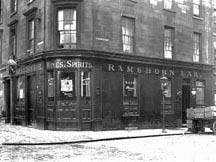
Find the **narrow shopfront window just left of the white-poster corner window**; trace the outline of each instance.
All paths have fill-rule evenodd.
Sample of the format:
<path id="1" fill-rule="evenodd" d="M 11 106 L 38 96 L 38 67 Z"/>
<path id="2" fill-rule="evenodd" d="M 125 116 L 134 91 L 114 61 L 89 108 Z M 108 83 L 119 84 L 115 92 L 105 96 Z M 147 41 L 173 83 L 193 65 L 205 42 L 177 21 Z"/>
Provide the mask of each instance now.
<path id="1" fill-rule="evenodd" d="M 54 101 L 55 97 L 55 82 L 54 82 L 54 72 L 48 72 L 48 101 Z"/>

